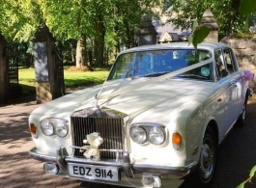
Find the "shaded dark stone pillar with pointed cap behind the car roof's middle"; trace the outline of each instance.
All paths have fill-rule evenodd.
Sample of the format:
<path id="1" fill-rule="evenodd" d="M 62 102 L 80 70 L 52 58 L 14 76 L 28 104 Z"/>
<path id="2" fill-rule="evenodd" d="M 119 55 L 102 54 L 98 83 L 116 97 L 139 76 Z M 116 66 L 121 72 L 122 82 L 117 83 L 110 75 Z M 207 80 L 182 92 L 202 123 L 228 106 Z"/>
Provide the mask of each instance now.
<path id="1" fill-rule="evenodd" d="M 149 15 L 145 14 L 136 32 L 138 45 L 156 44 L 156 29 Z"/>

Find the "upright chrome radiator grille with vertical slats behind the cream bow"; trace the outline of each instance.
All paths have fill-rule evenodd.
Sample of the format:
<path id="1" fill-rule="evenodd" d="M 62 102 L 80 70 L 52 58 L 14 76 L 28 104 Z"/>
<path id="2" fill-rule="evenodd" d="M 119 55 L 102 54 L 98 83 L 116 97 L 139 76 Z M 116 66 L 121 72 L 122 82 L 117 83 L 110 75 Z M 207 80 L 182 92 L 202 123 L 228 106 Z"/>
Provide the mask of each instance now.
<path id="1" fill-rule="evenodd" d="M 123 149 L 123 124 L 123 119 L 117 118 L 71 117 L 73 146 L 83 147 L 86 135 L 99 132 L 103 139 L 100 149 Z M 77 158 L 84 158 L 79 148 L 74 148 L 73 153 Z M 123 158 L 123 152 L 120 152 L 119 157 Z M 111 151 L 100 151 L 100 158 L 115 159 L 116 154 Z"/>

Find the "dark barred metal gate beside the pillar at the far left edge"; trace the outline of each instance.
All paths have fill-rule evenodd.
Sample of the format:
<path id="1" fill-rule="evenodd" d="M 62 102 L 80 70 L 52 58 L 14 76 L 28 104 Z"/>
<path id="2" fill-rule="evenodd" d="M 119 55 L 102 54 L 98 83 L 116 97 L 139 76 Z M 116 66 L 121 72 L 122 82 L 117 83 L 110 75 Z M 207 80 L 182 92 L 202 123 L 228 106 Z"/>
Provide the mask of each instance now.
<path id="1" fill-rule="evenodd" d="M 7 57 L 7 100 L 14 99 L 19 95 L 18 86 L 18 50 L 16 47 L 6 47 Z"/>

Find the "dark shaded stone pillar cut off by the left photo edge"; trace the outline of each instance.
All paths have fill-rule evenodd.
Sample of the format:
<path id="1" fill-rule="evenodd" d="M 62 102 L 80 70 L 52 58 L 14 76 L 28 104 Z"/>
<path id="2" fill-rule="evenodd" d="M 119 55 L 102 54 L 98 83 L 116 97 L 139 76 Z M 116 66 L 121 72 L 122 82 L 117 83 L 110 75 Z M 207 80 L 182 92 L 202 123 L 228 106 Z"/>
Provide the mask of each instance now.
<path id="1" fill-rule="evenodd" d="M 5 48 L 8 42 L 0 32 L 0 104 L 6 104 L 7 97 L 7 54 Z"/>

